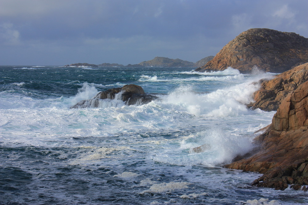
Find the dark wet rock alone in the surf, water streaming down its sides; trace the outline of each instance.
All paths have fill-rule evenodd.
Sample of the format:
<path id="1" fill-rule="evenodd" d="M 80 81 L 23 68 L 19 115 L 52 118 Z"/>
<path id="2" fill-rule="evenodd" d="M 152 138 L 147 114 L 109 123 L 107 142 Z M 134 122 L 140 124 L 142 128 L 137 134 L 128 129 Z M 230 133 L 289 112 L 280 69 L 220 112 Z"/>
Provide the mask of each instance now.
<path id="1" fill-rule="evenodd" d="M 97 93 L 89 100 L 79 101 L 70 108 L 98 108 L 103 99 L 116 99 L 124 101 L 127 105 L 132 104 L 147 104 L 158 97 L 145 94 L 144 90 L 139 85 L 124 85 L 122 88 L 112 88 L 106 91 Z"/>

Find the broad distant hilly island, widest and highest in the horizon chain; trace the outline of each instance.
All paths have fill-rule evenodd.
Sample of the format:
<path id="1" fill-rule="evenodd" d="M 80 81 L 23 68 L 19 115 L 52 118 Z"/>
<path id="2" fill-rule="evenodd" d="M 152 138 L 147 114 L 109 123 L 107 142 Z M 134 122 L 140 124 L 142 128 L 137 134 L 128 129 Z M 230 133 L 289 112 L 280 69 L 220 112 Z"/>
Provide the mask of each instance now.
<path id="1" fill-rule="evenodd" d="M 166 57 L 155 57 L 150 61 L 143 61 L 139 63 L 145 67 L 194 67 L 195 64 L 181 59 L 170 59 Z"/>

